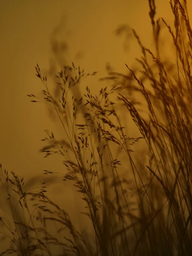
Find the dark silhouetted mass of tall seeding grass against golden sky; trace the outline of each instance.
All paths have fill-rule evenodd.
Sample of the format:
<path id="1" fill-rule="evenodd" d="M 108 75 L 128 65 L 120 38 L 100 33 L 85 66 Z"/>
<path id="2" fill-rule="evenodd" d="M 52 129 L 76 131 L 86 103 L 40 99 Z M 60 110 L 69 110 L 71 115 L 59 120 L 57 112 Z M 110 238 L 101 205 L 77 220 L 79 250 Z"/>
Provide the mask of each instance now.
<path id="1" fill-rule="evenodd" d="M 28 95 L 32 102 L 49 104 L 61 121 L 65 137 L 60 140 L 45 130 L 43 141 L 47 145 L 41 151 L 45 157 L 60 154 L 63 158 L 66 172 L 60 175 L 81 194 L 86 206 L 81 214 L 90 221 L 93 237 L 76 230 L 67 209 L 47 197 L 44 184 L 24 191 L 23 178 L 20 180 L 13 172 L 9 175 L 0 166 L 14 224 L 10 227 L 0 218 L 1 232 L 14 245 L 1 255 L 192 255 L 192 29 L 186 0 L 170 1 L 174 31 L 163 17 L 154 20 L 154 0 L 148 3 L 154 52 L 143 46 L 133 30 L 142 51 L 138 60 L 141 73 L 127 64 L 128 75 L 109 70 L 102 80 L 113 81 L 112 88 L 101 88 L 93 96 L 86 87 L 81 96 L 80 82 L 96 72 L 85 74 L 72 63 L 56 76 L 61 96 L 55 99 L 37 65 L 44 98 Z M 160 52 L 160 22 L 167 26 L 173 40 L 173 63 L 161 61 L 166 52 Z M 152 66 L 148 59 L 154 62 Z M 78 99 L 71 88 L 78 91 Z M 143 96 L 147 117 L 137 108 L 136 93 Z M 113 95 L 116 100 L 112 101 Z M 119 102 L 130 113 L 140 137 L 125 134 L 116 113 Z M 147 149 L 143 152 L 146 157 L 140 160 L 134 154 L 134 144 L 141 140 L 145 140 Z M 127 165 L 123 176 L 121 157 Z M 44 174 L 54 172 L 44 170 Z M 20 222 L 16 220 L 16 206 L 22 213 Z M 51 225 L 57 227 L 54 234 Z"/>

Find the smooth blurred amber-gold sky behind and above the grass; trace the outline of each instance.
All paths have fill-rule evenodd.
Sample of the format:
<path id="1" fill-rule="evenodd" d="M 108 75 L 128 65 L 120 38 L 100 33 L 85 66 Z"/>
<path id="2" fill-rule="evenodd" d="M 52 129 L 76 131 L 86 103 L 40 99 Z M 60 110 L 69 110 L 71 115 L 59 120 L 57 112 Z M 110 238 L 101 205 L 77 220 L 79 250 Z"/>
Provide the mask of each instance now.
<path id="1" fill-rule="evenodd" d="M 190 17 L 192 3 L 188 5 Z M 64 171 L 61 157 L 44 158 L 39 152 L 44 128 L 61 133 L 59 122 L 50 116 L 46 105 L 31 103 L 26 94 L 41 95 L 43 84 L 35 76 L 37 63 L 50 89 L 54 88 L 54 75 L 72 61 L 85 73 L 98 72 L 81 84 L 82 90 L 88 86 L 93 94 L 106 85 L 99 81 L 107 75 L 106 63 L 126 74 L 125 63 L 133 67 L 135 58 L 141 56 L 131 28 L 145 47 L 153 49 L 148 0 L 0 0 L 0 6 L 0 163 L 24 177 L 28 188 L 50 183 L 55 202 L 62 202 L 79 223 L 73 212 L 81 202 L 70 183 L 60 186 L 59 180 L 43 175 L 43 170 Z M 169 1 L 156 0 L 156 6 L 156 18 L 163 16 L 172 25 Z M 116 29 L 125 24 L 126 33 L 117 36 Z M 172 58 L 171 39 L 162 27 L 162 47 L 168 49 L 166 58 Z M 134 136 L 134 126 L 130 124 L 128 129 Z"/>

